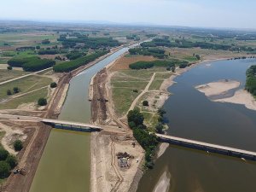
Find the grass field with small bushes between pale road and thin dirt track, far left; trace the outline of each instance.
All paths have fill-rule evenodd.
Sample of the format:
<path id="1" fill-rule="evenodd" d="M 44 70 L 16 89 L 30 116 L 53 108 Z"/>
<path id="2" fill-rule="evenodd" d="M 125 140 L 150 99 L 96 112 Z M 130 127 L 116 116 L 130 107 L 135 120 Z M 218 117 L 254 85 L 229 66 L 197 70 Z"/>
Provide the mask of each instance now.
<path id="1" fill-rule="evenodd" d="M 52 79 L 39 77 L 39 76 L 29 76 L 23 79 L 18 79 L 7 84 L 0 85 L 0 98 L 8 98 L 6 91 L 12 90 L 14 87 L 20 88 L 20 94 L 26 93 L 28 91 L 37 90 L 41 87 L 47 86 L 52 82 Z"/>

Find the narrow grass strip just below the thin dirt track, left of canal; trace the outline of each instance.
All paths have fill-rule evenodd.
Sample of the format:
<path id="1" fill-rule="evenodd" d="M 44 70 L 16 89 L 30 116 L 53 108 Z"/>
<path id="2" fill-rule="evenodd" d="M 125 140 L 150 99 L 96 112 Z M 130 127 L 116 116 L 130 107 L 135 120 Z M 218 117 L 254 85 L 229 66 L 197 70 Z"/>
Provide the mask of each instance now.
<path id="1" fill-rule="evenodd" d="M 0 104 L 0 109 L 15 109 L 18 108 L 21 104 L 38 102 L 40 97 L 46 97 L 48 94 L 48 89 L 44 88 L 42 90 L 37 90 L 31 94 L 25 96 L 20 96 L 15 99 L 10 100 L 9 102 L 4 102 Z"/>

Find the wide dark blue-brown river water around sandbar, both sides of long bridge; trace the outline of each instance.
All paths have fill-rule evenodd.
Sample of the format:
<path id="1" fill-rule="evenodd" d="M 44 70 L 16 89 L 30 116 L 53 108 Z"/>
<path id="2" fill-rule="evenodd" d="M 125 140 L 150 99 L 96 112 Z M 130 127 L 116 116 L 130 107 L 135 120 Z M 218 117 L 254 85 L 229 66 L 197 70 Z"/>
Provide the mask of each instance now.
<path id="1" fill-rule="evenodd" d="M 255 60 L 214 61 L 178 76 L 166 101 L 168 135 L 256 151 L 256 111 L 242 105 L 211 102 L 195 90 L 221 79 L 241 82 Z M 238 90 L 236 89 L 236 90 Z M 234 90 L 235 91 L 235 90 Z M 233 91 L 233 93 L 234 93 Z M 255 192 L 256 163 L 189 148 L 170 146 L 153 170 L 146 172 L 137 192 Z"/>

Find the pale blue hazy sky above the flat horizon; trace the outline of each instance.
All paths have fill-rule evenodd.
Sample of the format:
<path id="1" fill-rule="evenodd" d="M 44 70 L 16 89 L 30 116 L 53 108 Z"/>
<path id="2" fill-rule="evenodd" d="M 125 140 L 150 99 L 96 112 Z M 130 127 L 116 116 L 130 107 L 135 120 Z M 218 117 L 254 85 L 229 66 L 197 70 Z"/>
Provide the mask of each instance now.
<path id="1" fill-rule="evenodd" d="M 1 0 L 0 20 L 256 29 L 255 0 Z"/>

